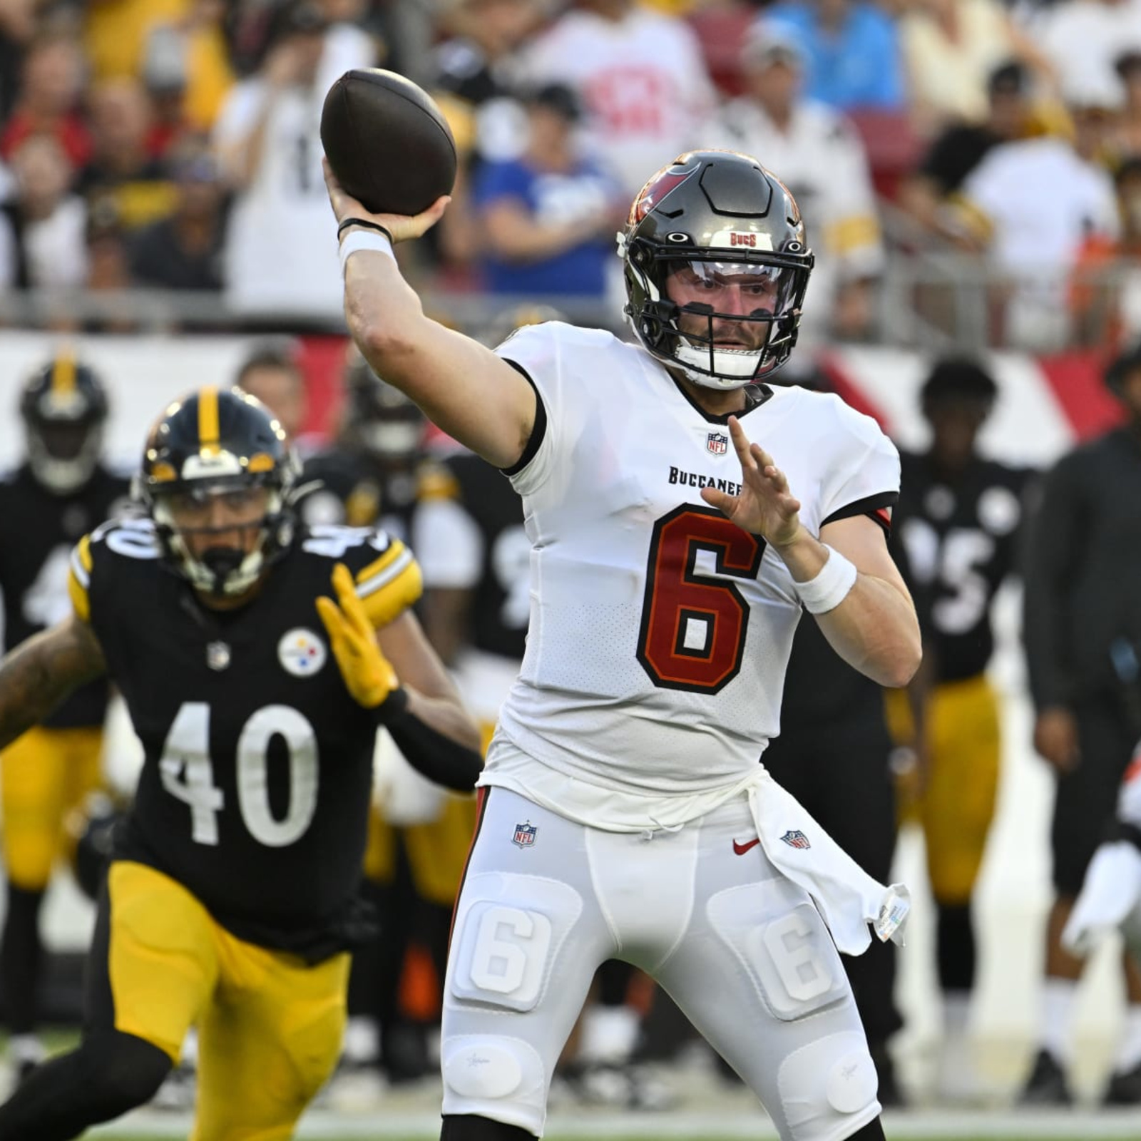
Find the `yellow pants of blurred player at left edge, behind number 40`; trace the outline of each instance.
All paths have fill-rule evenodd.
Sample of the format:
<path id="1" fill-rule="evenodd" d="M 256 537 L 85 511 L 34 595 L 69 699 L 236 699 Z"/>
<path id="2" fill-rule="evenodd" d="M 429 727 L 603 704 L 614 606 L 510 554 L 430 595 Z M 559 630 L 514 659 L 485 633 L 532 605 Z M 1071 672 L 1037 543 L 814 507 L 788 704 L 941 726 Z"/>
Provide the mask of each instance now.
<path id="1" fill-rule="evenodd" d="M 64 852 L 64 822 L 99 787 L 100 728 L 29 729 L 0 753 L 0 810 L 8 879 L 43 891 Z"/>

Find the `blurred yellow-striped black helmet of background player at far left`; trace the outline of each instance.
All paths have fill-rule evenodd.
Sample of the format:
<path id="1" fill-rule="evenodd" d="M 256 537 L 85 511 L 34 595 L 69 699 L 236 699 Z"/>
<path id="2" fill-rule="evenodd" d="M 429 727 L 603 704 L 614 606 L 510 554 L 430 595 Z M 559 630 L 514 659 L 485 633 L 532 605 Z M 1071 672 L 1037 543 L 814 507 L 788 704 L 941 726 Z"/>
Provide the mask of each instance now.
<path id="1" fill-rule="evenodd" d="M 94 370 L 60 353 L 27 378 L 19 414 L 35 479 L 57 495 L 82 487 L 99 462 L 107 419 L 107 393 Z"/>

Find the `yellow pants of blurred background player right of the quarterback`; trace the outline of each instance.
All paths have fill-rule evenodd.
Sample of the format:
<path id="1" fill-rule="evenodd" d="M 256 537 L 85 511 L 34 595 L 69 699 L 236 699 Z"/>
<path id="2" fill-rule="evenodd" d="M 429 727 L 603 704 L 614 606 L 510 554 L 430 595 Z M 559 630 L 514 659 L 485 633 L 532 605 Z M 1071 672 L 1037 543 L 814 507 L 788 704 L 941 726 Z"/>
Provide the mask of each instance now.
<path id="1" fill-rule="evenodd" d="M 914 741 L 903 690 L 888 693 L 888 725 L 898 744 Z M 986 675 L 936 686 L 926 711 L 926 785 L 905 819 L 917 819 L 926 840 L 936 900 L 966 904 L 982 864 L 998 794 L 998 696 Z"/>

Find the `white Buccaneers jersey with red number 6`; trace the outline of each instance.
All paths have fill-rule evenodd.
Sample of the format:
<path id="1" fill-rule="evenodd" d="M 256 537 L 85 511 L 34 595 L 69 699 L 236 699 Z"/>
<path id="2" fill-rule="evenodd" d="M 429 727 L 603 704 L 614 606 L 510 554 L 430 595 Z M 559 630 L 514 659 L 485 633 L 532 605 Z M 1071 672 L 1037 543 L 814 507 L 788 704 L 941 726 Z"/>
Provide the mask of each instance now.
<path id="1" fill-rule="evenodd" d="M 739 489 L 728 418 L 609 333 L 551 322 L 497 351 L 541 410 L 508 472 L 532 542 L 532 612 L 484 782 L 526 793 L 539 762 L 659 798 L 755 772 L 801 606 L 779 556 L 701 497 Z M 809 532 L 863 513 L 887 525 L 899 458 L 873 420 L 801 388 L 748 394 L 742 427 L 787 475 Z"/>

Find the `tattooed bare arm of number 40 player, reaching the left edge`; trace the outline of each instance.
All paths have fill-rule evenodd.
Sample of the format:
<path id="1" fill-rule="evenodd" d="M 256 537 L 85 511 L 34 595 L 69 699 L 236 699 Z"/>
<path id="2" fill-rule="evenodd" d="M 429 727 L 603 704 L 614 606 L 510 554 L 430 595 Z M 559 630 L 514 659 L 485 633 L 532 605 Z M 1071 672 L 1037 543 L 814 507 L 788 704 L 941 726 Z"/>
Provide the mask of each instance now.
<path id="1" fill-rule="evenodd" d="M 91 628 L 71 615 L 0 661 L 0 748 L 107 669 Z"/>

